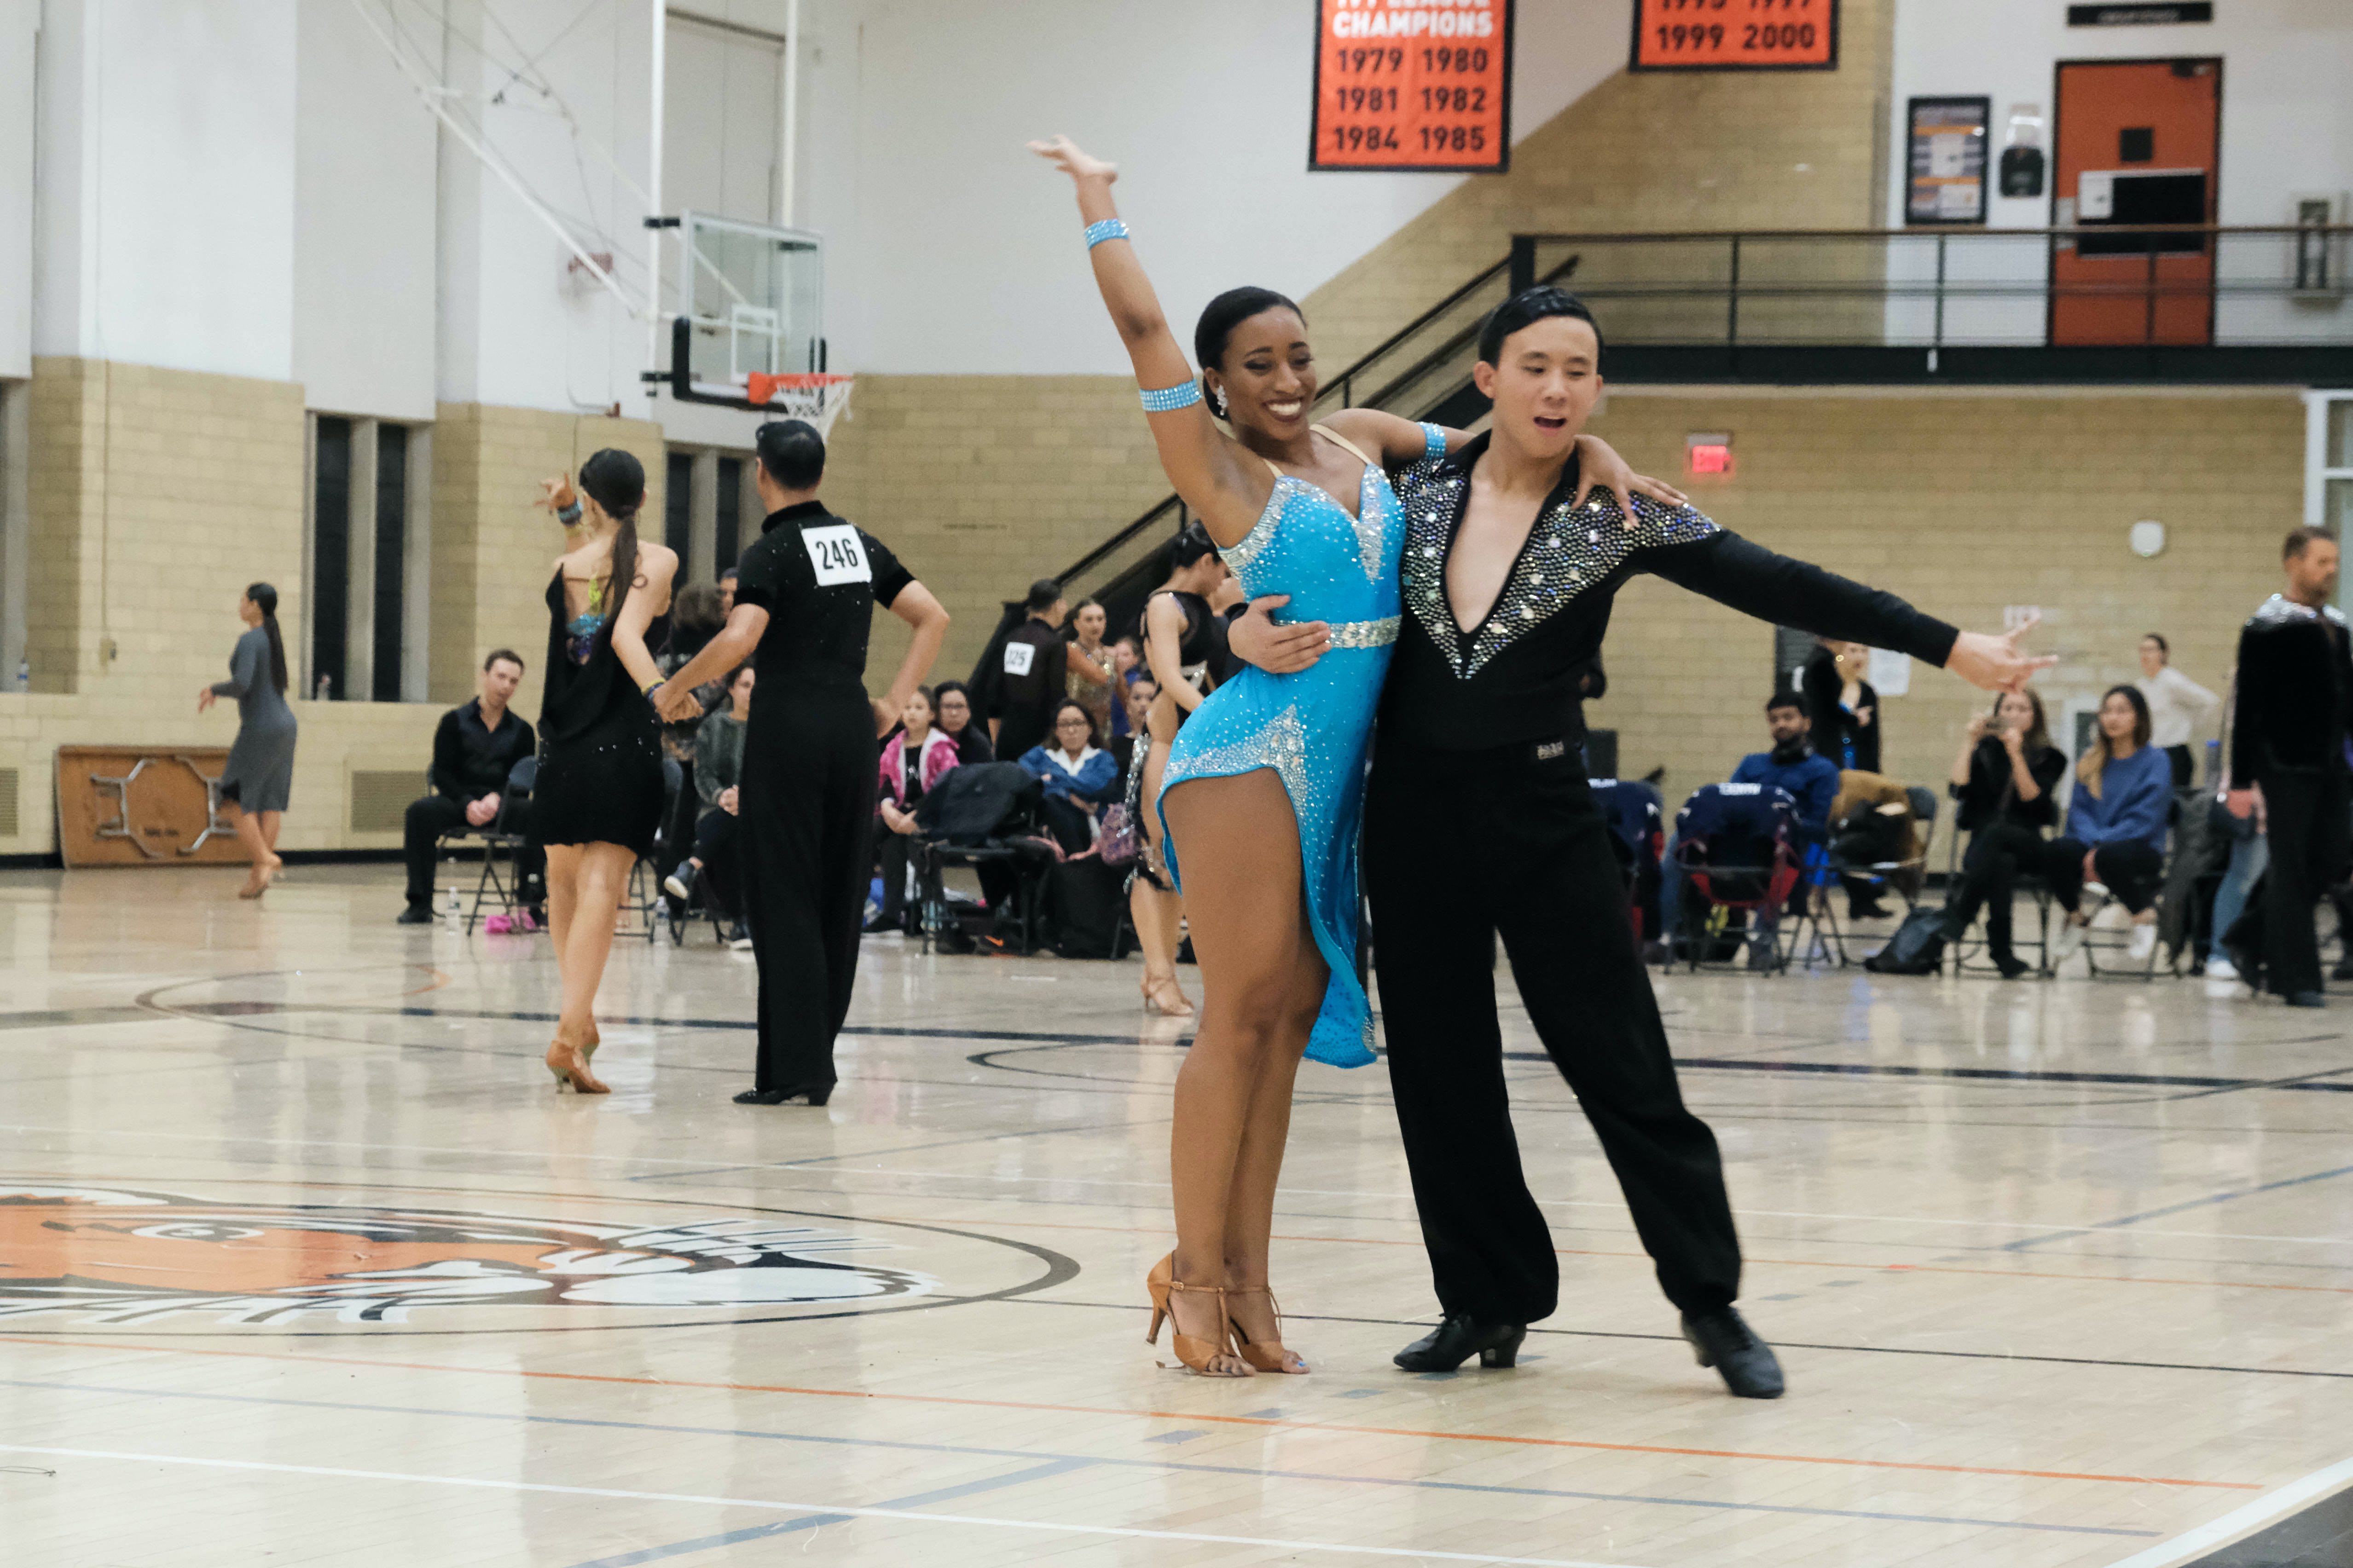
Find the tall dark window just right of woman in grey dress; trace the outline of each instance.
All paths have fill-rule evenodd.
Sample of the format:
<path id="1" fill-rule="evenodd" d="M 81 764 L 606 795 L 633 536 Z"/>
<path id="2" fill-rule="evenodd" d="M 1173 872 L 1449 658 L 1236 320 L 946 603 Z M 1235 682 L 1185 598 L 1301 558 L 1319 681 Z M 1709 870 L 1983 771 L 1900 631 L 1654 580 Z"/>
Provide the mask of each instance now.
<path id="1" fill-rule="evenodd" d="M 431 428 L 311 416 L 301 696 L 315 703 L 426 698 L 431 489 Z"/>

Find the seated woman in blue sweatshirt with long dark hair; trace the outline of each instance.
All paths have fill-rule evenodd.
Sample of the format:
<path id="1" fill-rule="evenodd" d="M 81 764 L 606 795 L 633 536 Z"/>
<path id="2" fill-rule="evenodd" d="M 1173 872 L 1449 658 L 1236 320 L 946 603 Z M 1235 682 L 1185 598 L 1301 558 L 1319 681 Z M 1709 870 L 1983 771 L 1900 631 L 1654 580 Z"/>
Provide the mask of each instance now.
<path id="1" fill-rule="evenodd" d="M 2085 882 L 2099 882 L 2132 910 L 2132 959 L 2155 952 L 2155 900 L 2165 882 L 2165 818 L 2172 804 L 2172 759 L 2148 743 L 2148 698 L 2139 686 L 2111 686 L 2099 698 L 2099 741 L 2075 764 L 2066 837 L 2042 846 L 2042 879 L 2066 910 L 2066 926 L 2052 950 L 2054 964 L 2082 947 L 2089 926 L 2078 910 Z"/>

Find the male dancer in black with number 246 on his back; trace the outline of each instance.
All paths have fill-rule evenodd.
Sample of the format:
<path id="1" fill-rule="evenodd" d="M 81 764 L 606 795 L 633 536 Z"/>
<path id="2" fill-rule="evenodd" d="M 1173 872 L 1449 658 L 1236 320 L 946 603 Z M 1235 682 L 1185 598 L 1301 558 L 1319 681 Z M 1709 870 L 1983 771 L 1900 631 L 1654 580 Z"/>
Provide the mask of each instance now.
<path id="1" fill-rule="evenodd" d="M 664 719 L 692 717 L 694 686 L 758 649 L 760 701 L 736 788 L 744 914 L 760 964 L 760 1067 L 736 1105 L 824 1105 L 873 875 L 875 745 L 939 656 L 948 611 L 880 538 L 816 498 L 826 442 L 814 425 L 760 425 L 758 454 L 767 522 L 736 562 L 734 611 L 654 689 L 654 705 Z M 864 684 L 873 604 L 915 628 L 880 701 Z"/>

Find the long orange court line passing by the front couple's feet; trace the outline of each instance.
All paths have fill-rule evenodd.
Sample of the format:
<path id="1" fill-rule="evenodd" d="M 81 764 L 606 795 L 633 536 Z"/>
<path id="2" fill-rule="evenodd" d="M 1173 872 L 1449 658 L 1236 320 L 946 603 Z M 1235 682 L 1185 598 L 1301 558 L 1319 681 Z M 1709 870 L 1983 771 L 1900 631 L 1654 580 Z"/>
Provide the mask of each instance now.
<path id="1" fill-rule="evenodd" d="M 1228 1427 L 1275 1427 L 1282 1432 L 1337 1432 L 1344 1436 L 1414 1436 L 1414 1439 L 1445 1439 L 1459 1443 L 1518 1443 L 1527 1448 L 1586 1448 L 1595 1453 L 1666 1453 L 1680 1458 L 1701 1460 L 1769 1460 L 1779 1465 L 1840 1465 L 1854 1469 L 1920 1469 L 1948 1476 L 2031 1476 L 2035 1481 L 2122 1481 L 2127 1486 L 2200 1486 L 2214 1490 L 2233 1493 L 2259 1493 L 2264 1490 L 2254 1481 L 2181 1481 L 2177 1476 L 2106 1476 L 2097 1472 L 2078 1469 L 2002 1469 L 1988 1465 L 1922 1465 L 1915 1460 L 1847 1460 L 1835 1455 L 1817 1453 L 1758 1453 L 1741 1448 L 1671 1448 L 1664 1443 L 1598 1443 L 1569 1436 L 1506 1436 L 1501 1432 L 1424 1432 L 1417 1427 L 1344 1427 L 1337 1422 L 1315 1420 L 1280 1420 L 1271 1415 L 1205 1415 L 1200 1410 L 1118 1410 L 1101 1406 L 1056 1406 L 1056 1403 L 1033 1403 L 1024 1399 L 951 1399 L 944 1394 L 880 1394 L 873 1389 L 809 1389 L 793 1387 L 784 1382 L 696 1382 L 685 1378 L 624 1378 L 619 1373 L 548 1373 L 548 1371 L 525 1371 L 525 1368 L 492 1368 L 492 1366 L 440 1366 L 431 1361 L 369 1361 L 365 1356 L 306 1356 L 294 1352 L 271 1352 L 271 1349 L 181 1349 L 176 1345 L 129 1345 L 115 1340 L 49 1340 L 38 1335 L 0 1335 L 0 1345 L 64 1345 L 68 1349 L 144 1349 L 162 1356 L 240 1356 L 252 1361 L 315 1361 L 322 1366 L 367 1366 L 376 1371 L 405 1371 L 405 1373 L 473 1373 L 489 1378 L 546 1378 L 553 1382 L 616 1382 L 628 1387 L 652 1387 L 652 1389 L 718 1389 L 725 1394 L 805 1394 L 814 1399 L 887 1399 L 896 1403 L 922 1403 L 922 1406 L 974 1406 L 984 1410 L 1052 1410 L 1056 1415 L 1115 1415 L 1129 1420 L 1184 1420 L 1184 1422 L 1219 1422 Z"/>

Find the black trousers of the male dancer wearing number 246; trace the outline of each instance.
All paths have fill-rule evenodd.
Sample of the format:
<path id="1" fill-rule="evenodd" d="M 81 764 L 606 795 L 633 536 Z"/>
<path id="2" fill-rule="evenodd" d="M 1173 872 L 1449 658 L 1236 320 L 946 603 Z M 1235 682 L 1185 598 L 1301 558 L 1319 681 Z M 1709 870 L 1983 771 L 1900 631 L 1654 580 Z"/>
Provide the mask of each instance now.
<path id="1" fill-rule="evenodd" d="M 744 924 L 760 964 L 755 1088 L 833 1081 L 873 877 L 875 722 L 866 693 L 776 691 L 744 736 Z"/>

